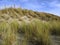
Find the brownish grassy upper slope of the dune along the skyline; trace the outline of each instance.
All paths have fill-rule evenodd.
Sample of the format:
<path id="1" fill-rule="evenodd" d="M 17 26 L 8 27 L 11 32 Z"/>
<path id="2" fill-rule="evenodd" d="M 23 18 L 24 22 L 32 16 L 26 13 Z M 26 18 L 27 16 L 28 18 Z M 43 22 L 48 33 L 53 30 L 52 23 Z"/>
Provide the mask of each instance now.
<path id="1" fill-rule="evenodd" d="M 12 18 L 19 18 L 21 16 L 29 16 L 33 18 L 38 18 L 41 20 L 45 21 L 60 21 L 60 17 L 49 14 L 49 13 L 44 13 L 44 12 L 37 12 L 37 11 L 32 11 L 32 10 L 27 10 L 27 9 L 21 9 L 21 8 L 6 8 L 3 10 L 0 10 L 0 14 L 8 14 Z"/>

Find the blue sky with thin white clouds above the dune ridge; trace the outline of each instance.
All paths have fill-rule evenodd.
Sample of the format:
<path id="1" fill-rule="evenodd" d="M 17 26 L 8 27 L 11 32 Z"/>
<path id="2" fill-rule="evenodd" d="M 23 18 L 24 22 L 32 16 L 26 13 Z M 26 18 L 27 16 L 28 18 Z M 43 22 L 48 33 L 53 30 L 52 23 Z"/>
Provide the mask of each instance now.
<path id="1" fill-rule="evenodd" d="M 0 0 L 0 9 L 5 7 L 21 7 L 39 12 L 47 12 L 60 16 L 60 0 Z"/>

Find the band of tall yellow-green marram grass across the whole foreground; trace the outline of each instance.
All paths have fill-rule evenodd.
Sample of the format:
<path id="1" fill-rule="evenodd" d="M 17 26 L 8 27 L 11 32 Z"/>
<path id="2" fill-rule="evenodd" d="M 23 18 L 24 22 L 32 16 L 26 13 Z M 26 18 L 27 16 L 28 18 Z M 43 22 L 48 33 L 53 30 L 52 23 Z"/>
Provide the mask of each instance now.
<path id="1" fill-rule="evenodd" d="M 54 24 L 57 25 L 57 24 Z M 50 39 L 50 29 L 58 29 L 49 22 L 42 22 L 39 19 L 33 19 L 26 23 L 25 21 L 12 20 L 11 22 L 0 22 L 0 45 L 52 45 Z"/>

